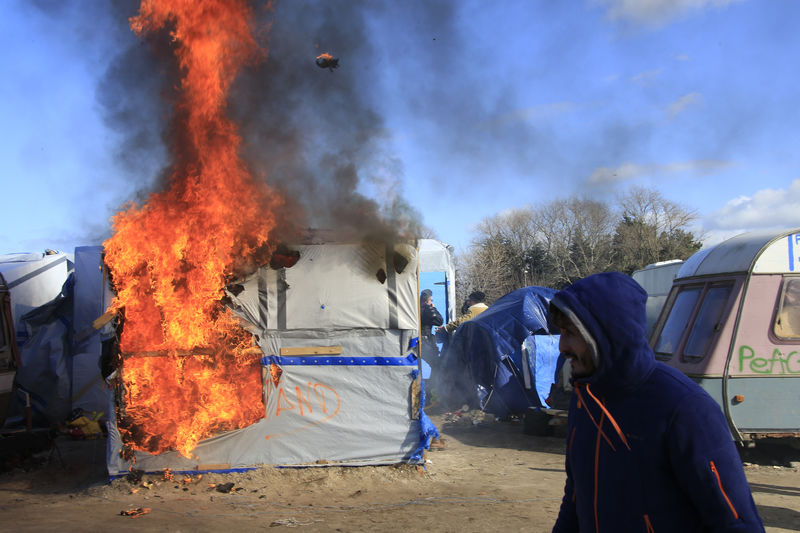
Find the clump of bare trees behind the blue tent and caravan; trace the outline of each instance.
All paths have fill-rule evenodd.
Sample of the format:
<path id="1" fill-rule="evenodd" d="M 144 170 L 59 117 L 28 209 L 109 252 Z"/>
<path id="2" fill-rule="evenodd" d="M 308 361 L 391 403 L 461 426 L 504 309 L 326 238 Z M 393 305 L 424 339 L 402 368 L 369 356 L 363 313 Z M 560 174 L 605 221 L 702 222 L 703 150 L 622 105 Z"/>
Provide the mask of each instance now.
<path id="1" fill-rule="evenodd" d="M 695 212 L 658 191 L 631 188 L 618 205 L 573 196 L 504 211 L 478 224 L 460 263 L 460 285 L 490 299 L 520 287 L 562 288 L 596 272 L 631 273 L 700 248 Z"/>

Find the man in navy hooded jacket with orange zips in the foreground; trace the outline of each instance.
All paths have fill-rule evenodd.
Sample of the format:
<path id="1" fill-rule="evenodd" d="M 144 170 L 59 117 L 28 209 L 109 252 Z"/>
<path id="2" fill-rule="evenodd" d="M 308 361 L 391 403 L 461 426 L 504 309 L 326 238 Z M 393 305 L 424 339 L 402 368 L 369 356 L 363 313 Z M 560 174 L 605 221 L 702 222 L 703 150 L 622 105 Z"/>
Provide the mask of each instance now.
<path id="1" fill-rule="evenodd" d="M 722 410 L 655 360 L 646 301 L 631 277 L 606 272 L 550 303 L 574 386 L 553 531 L 763 531 Z"/>

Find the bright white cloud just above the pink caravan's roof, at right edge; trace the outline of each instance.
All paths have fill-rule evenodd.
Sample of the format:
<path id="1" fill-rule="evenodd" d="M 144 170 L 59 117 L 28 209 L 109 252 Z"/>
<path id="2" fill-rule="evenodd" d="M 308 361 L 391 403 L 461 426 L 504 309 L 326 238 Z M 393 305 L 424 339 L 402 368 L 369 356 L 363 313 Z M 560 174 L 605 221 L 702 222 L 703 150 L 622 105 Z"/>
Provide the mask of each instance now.
<path id="1" fill-rule="evenodd" d="M 761 189 L 733 198 L 705 217 L 703 225 L 714 232 L 800 227 L 800 179 L 786 189 Z"/>

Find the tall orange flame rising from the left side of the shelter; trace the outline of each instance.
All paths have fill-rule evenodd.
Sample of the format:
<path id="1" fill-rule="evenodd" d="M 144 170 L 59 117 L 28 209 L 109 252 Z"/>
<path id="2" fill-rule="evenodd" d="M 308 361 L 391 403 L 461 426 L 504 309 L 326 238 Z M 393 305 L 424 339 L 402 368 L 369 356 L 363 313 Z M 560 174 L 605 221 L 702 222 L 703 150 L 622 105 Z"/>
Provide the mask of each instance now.
<path id="1" fill-rule="evenodd" d="M 252 338 L 220 303 L 226 280 L 271 251 L 280 202 L 239 159 L 225 115 L 236 73 L 260 57 L 250 16 L 243 0 L 143 0 L 130 20 L 139 36 L 170 28 L 181 68 L 169 186 L 115 215 L 104 243 L 112 310 L 124 311 L 119 427 L 135 450 L 189 457 L 201 439 L 264 416 Z"/>

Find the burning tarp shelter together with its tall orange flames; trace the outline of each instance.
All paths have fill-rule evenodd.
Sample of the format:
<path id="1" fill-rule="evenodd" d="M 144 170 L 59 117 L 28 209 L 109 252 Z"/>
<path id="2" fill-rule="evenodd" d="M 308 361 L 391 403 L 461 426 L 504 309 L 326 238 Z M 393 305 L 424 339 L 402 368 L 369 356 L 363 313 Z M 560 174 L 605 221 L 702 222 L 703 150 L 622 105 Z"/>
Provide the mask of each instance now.
<path id="1" fill-rule="evenodd" d="M 277 246 L 292 202 L 240 159 L 227 114 L 236 73 L 263 57 L 251 15 L 241 0 L 151 0 L 131 18 L 140 36 L 169 31 L 180 81 L 167 186 L 104 243 L 112 476 L 415 460 L 436 431 L 413 353 L 416 247 L 376 227 Z M 351 211 L 370 226 L 366 207 Z"/>

